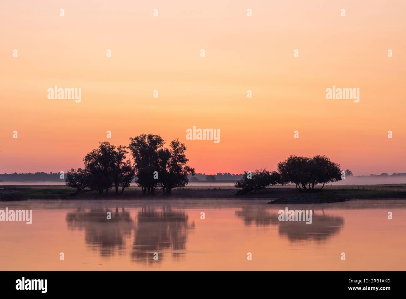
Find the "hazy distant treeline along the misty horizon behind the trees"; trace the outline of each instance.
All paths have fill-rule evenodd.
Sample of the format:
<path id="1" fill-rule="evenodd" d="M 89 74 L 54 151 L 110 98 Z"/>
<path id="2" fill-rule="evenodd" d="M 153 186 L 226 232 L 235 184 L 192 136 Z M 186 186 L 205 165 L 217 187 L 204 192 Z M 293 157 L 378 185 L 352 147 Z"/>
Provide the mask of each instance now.
<path id="1" fill-rule="evenodd" d="M 66 171 L 65 171 L 66 173 Z M 218 172 L 216 174 L 206 174 L 206 173 L 195 173 L 188 175 L 190 181 L 206 181 L 207 176 L 214 176 L 214 180 L 217 181 L 238 181 L 244 176 L 244 173 L 229 173 L 229 172 Z M 391 177 L 391 176 L 406 176 L 406 172 L 402 173 L 381 173 L 381 174 L 370 174 L 369 176 L 354 176 L 356 178 L 370 178 L 370 177 Z M 207 179 L 206 179 L 207 178 Z M 212 177 L 210 180 L 213 180 Z M 4 173 L 0 174 L 0 181 L 3 182 L 65 182 L 65 179 L 60 179 L 59 172 L 36 172 L 36 173 Z M 134 181 L 134 180 L 133 180 Z"/>

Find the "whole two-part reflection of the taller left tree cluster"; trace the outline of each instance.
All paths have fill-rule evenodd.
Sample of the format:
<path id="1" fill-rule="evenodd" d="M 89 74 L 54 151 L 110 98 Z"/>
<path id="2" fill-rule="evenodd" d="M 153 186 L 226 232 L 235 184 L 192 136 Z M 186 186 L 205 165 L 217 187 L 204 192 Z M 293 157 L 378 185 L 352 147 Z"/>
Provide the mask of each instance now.
<path id="1" fill-rule="evenodd" d="M 111 219 L 107 219 L 107 212 L 111 212 Z M 134 230 L 131 257 L 141 263 L 161 262 L 162 251 L 170 249 L 174 251 L 174 260 L 181 258 L 184 253 L 179 251 L 186 249 L 188 230 L 194 228 L 194 221 L 188 224 L 186 212 L 168 207 L 143 207 L 138 212 L 137 225 L 124 208 L 121 211 L 116 208 L 115 212 L 107 208 L 78 209 L 67 213 L 66 222 L 70 230 L 84 230 L 86 245 L 98 250 L 101 256 L 120 253 Z M 158 252 L 158 260 L 153 260 L 154 252 Z"/>

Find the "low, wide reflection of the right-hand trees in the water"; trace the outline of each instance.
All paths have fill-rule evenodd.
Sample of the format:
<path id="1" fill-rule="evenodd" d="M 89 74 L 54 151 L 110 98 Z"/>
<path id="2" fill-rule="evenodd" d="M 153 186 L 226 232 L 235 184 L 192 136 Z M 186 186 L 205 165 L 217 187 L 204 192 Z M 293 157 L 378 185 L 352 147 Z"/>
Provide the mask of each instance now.
<path id="1" fill-rule="evenodd" d="M 269 226 L 278 225 L 278 233 L 286 236 L 289 241 L 326 241 L 339 234 L 344 225 L 340 216 L 325 215 L 313 211 L 312 224 L 306 221 L 279 221 L 279 214 L 268 212 L 263 208 L 243 208 L 235 211 L 235 215 L 244 220 L 245 225 Z"/>

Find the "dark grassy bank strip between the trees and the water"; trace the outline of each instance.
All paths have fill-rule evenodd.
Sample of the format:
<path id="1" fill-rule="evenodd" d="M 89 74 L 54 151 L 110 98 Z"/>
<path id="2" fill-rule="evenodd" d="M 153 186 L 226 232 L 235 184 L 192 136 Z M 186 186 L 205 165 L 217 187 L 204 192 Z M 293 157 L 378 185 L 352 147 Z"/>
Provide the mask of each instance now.
<path id="1" fill-rule="evenodd" d="M 230 186 L 190 186 L 174 189 L 172 195 L 165 196 L 161 189 L 155 195 L 143 195 L 140 188 L 130 187 L 121 195 L 114 190 L 99 194 L 95 191 L 73 196 L 74 189 L 67 186 L 1 186 L 0 200 L 27 199 L 153 199 L 153 198 L 229 198 L 229 199 L 271 199 L 274 204 L 329 203 L 353 199 L 406 199 L 406 184 L 383 185 L 344 185 L 325 186 L 321 191 L 308 193 L 298 191 L 295 186 L 274 186 L 253 194 L 236 195 L 239 189 Z"/>

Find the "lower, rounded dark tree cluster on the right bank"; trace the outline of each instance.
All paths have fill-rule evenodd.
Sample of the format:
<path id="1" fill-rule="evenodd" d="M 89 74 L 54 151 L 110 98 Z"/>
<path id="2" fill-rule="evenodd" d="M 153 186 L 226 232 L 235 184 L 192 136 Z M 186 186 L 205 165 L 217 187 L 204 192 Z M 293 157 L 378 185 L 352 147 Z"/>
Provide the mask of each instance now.
<path id="1" fill-rule="evenodd" d="M 300 157 L 290 156 L 278 163 L 278 171 L 266 169 L 255 173 L 245 172 L 235 187 L 242 188 L 238 194 L 256 192 L 274 184 L 296 184 L 296 189 L 313 191 L 317 184 L 341 180 L 340 165 L 326 156 Z M 317 189 L 317 188 L 316 188 Z"/>

